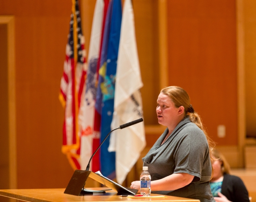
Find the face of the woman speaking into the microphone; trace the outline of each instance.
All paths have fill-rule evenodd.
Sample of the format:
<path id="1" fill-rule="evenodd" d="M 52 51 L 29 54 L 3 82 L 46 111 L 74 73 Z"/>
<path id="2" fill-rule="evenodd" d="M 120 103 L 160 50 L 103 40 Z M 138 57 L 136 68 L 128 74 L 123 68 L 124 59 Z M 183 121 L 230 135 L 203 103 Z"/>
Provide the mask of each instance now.
<path id="1" fill-rule="evenodd" d="M 158 123 L 167 127 L 173 123 L 176 123 L 180 114 L 179 108 L 175 107 L 171 99 L 167 95 L 160 93 L 156 102 Z"/>

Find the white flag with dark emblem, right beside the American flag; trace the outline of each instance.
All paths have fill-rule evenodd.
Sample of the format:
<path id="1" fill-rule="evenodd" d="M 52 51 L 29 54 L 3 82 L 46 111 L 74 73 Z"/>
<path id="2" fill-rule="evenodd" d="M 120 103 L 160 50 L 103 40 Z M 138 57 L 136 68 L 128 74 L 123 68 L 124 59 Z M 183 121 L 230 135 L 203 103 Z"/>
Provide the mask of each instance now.
<path id="1" fill-rule="evenodd" d="M 102 32 L 104 1 L 97 0 L 94 9 L 92 21 L 92 32 L 90 38 L 90 47 L 88 55 L 88 70 L 86 77 L 86 93 L 84 96 L 84 104 L 82 105 L 82 113 L 79 116 L 82 125 L 81 136 L 81 169 L 85 170 L 92 156 L 93 139 L 97 134 L 94 133 L 94 106 L 96 97 L 96 67 L 100 52 L 100 39 Z M 92 166 L 90 166 L 92 168 Z"/>

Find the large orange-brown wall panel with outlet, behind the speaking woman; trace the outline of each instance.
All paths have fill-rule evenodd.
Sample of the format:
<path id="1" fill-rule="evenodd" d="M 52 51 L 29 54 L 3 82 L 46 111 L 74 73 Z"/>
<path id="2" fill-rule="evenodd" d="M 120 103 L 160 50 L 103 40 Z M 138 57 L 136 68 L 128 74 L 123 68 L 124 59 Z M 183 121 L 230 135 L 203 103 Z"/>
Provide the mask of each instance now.
<path id="1" fill-rule="evenodd" d="M 238 139 L 235 14 L 234 0 L 168 1 L 169 84 L 188 92 L 218 145 Z"/>

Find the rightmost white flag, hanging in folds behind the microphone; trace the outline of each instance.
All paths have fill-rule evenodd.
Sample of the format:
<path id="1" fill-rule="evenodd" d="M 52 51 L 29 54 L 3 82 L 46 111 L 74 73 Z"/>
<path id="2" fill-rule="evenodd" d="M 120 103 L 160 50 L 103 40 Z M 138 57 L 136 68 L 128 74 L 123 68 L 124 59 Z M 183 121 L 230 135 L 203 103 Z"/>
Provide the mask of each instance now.
<path id="1" fill-rule="evenodd" d="M 124 3 L 118 51 L 114 114 L 111 127 L 134 121 L 143 116 L 140 88 L 137 45 L 134 30 L 134 14 L 131 0 Z M 125 180 L 132 166 L 137 162 L 140 152 L 146 146 L 144 124 L 138 123 L 111 134 L 109 151 L 116 151 L 116 180 Z"/>

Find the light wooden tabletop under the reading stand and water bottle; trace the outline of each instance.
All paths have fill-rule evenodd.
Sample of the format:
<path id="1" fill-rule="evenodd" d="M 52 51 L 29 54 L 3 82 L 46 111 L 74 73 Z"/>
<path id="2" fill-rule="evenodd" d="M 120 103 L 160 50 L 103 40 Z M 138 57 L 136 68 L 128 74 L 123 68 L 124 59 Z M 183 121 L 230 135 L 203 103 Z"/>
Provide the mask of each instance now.
<path id="1" fill-rule="evenodd" d="M 88 188 L 95 190 L 104 190 L 106 188 Z M 126 198 L 116 195 L 113 190 L 106 191 L 105 195 L 85 195 L 73 196 L 64 194 L 65 189 L 5 189 L 0 190 L 1 196 L 15 198 L 27 202 L 141 202 L 141 201 L 154 201 L 154 202 L 200 202 L 200 200 L 180 198 L 175 196 L 167 196 L 168 198 Z M 151 194 L 157 196 L 158 194 Z"/>

